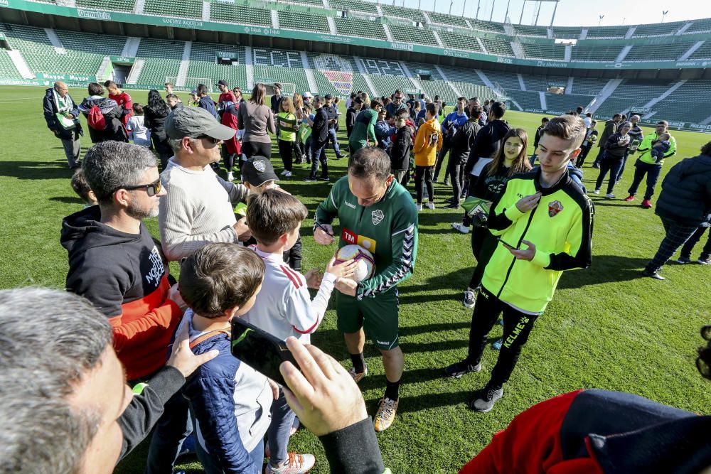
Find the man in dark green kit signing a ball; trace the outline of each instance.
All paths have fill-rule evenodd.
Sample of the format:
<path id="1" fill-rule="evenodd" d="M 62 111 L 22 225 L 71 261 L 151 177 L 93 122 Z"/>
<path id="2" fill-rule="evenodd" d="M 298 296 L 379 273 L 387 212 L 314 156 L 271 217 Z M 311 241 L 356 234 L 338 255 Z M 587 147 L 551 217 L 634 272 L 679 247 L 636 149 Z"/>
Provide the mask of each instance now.
<path id="1" fill-rule="evenodd" d="M 375 257 L 375 274 L 356 283 L 338 279 L 336 314 L 351 354 L 351 376 L 368 375 L 363 359 L 365 333 L 383 355 L 387 387 L 375 415 L 375 430 L 392 424 L 397 411 L 402 350 L 397 336 L 397 284 L 412 275 L 417 256 L 417 209 L 410 193 L 390 173 L 390 158 L 375 147 L 351 155 L 348 176 L 336 181 L 316 210 L 314 239 L 333 242 L 333 218 L 341 224 L 339 247 L 358 244 Z M 365 333 L 364 331 L 365 330 Z"/>

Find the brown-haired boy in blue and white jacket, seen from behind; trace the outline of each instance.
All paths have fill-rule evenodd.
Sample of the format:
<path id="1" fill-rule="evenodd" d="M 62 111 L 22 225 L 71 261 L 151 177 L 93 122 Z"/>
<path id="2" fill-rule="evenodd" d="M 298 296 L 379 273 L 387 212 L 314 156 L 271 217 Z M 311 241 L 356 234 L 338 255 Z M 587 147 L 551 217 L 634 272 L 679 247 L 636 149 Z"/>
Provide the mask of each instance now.
<path id="1" fill-rule="evenodd" d="M 232 357 L 230 320 L 252 308 L 264 269 L 255 252 L 226 243 L 205 245 L 181 265 L 181 296 L 190 306 L 181 327 L 188 325 L 190 348 L 197 355 L 220 352 L 183 387 L 196 419 L 198 458 L 208 473 L 262 472 L 278 387 Z"/>

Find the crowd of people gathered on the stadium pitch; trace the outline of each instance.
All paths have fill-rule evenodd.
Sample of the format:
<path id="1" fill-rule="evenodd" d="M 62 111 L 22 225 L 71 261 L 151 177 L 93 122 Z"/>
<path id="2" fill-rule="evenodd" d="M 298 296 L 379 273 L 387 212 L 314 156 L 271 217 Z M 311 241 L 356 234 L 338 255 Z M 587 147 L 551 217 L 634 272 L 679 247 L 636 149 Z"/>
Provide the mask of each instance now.
<path id="1" fill-rule="evenodd" d="M 645 208 L 676 151 L 664 121 L 643 136 L 639 117 L 617 114 L 597 139 L 596 122 L 580 108 L 543 119 L 528 156 L 528 133 L 506 122 L 503 102 L 460 97 L 445 114 L 439 97 L 354 92 L 346 101 L 347 173 L 321 196 L 313 236 L 319 245 L 368 249 L 375 274 L 356 281 L 355 262 L 335 258 L 302 274 L 299 234 L 309 212 L 277 184 L 271 135 L 283 178 L 306 162 L 306 181 L 331 180 L 326 147 L 335 159 L 346 156 L 338 98 L 284 97 L 275 84 L 267 106 L 263 84 L 250 99 L 225 81 L 218 87 L 217 102 L 198 85 L 187 106 L 170 84 L 166 99 L 151 90 L 145 106 L 110 81 L 92 82 L 79 105 L 62 82 L 47 90 L 48 127 L 86 206 L 62 222 L 68 292 L 0 291 L 10 348 L 0 351 L 0 378 L 9 382 L 28 364 L 36 378 L 0 392 L 11 472 L 108 473 L 150 435 L 146 473 L 172 473 L 186 440 L 208 473 L 261 473 L 265 457 L 268 473 L 304 473 L 314 456 L 289 451 L 303 424 L 324 444 L 332 472 L 386 473 L 375 432 L 392 426 L 401 402 L 397 287 L 415 271 L 419 212 L 435 209 L 442 168 L 452 188 L 446 207 L 463 210 L 452 227 L 471 232 L 476 258 L 464 291 L 464 306 L 474 308 L 469 347 L 443 377 L 481 370 L 502 316 L 496 364 L 468 404 L 486 413 L 503 397 L 562 272 L 594 262 L 594 205 L 580 169 L 592 146 L 600 148 L 594 194 L 610 173 L 607 198 L 626 158 L 639 153 L 626 200 L 646 175 Z M 83 159 L 80 114 L 94 142 Z M 679 247 L 678 261 L 691 262 L 711 222 L 711 142 L 676 163 L 661 188 L 656 213 L 666 235 L 642 272 L 656 279 Z M 158 217 L 160 239 L 144 224 L 149 217 Z M 710 247 L 698 262 L 711 264 Z M 178 279 L 169 262 L 178 262 Z M 348 370 L 310 344 L 331 296 Z M 20 313 L 38 321 L 23 325 Z M 234 318 L 286 341 L 300 367 L 282 364 L 286 386 L 232 357 Z M 709 340 L 711 330 L 702 336 Z M 385 372 L 372 421 L 357 386 L 368 377 L 368 340 Z M 30 345 L 44 349 L 33 362 L 12 350 Z M 710 353 L 700 349 L 697 360 L 705 377 Z M 572 392 L 524 411 L 461 472 L 699 472 L 711 465 L 710 423 L 630 394 Z"/>

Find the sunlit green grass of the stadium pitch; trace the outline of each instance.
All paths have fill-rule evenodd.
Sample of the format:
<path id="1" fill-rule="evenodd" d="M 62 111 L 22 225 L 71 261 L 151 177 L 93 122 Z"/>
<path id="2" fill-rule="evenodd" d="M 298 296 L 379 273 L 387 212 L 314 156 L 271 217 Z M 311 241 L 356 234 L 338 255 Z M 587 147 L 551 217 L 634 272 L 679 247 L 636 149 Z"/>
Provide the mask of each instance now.
<path id="1" fill-rule="evenodd" d="M 75 99 L 84 95 L 82 90 L 71 92 Z M 62 288 L 68 266 L 67 254 L 59 244 L 60 224 L 65 215 L 82 208 L 69 185 L 71 173 L 60 141 L 43 121 L 43 93 L 39 87 L 0 88 L 0 226 L 4 230 L 0 288 Z M 136 102 L 145 102 L 145 92 L 131 93 Z M 530 133 L 540 123 L 540 116 L 534 114 L 508 112 L 506 118 L 512 126 Z M 345 126 L 342 129 L 345 132 Z M 695 156 L 710 139 L 690 132 L 674 135 L 679 153 L 667 160 L 665 169 L 680 158 Z M 90 145 L 89 139 L 83 139 L 82 144 Z M 279 172 L 282 168 L 276 152 L 274 157 Z M 618 195 L 629 186 L 633 162 L 617 188 Z M 329 166 L 334 177 L 345 173 L 343 160 L 331 161 Z M 282 185 L 303 200 L 312 214 L 326 197 L 329 185 L 304 183 L 300 178 L 306 176 L 306 168 L 295 168 L 294 178 Z M 584 181 L 592 188 L 597 170 L 586 167 L 584 172 Z M 447 190 L 437 187 L 437 203 L 448 196 Z M 459 219 L 459 212 L 437 209 L 420 214 L 415 274 L 399 287 L 400 343 L 405 352 L 400 410 L 392 428 L 378 434 L 385 464 L 394 472 L 454 472 L 520 411 L 573 389 L 634 392 L 682 409 L 707 411 L 711 392 L 698 375 L 694 358 L 701 343 L 698 329 L 711 316 L 711 269 L 668 264 L 666 281 L 640 278 L 639 271 L 663 237 L 660 220 L 653 210 L 643 210 L 638 203 L 594 195 L 592 200 L 597 205 L 592 267 L 562 276 L 555 298 L 539 318 L 506 385 L 505 397 L 489 414 L 469 411 L 465 403 L 471 391 L 488 380 L 496 352 L 486 349 L 483 370 L 477 375 L 459 380 L 440 377 L 442 367 L 459 360 L 466 351 L 471 310 L 463 308 L 459 300 L 474 266 L 469 235 L 459 235 L 449 227 Z M 157 237 L 156 221 L 147 224 Z M 310 220 L 304 222 L 302 231 L 304 271 L 322 269 L 334 251 L 314 244 L 311 224 Z M 32 315 L 23 317 L 31 323 Z M 496 326 L 491 337 L 500 333 Z M 350 367 L 333 310 L 328 311 L 312 340 Z M 377 351 L 366 345 L 365 355 L 370 376 L 360 387 L 368 412 L 373 414 L 385 378 Z M 316 454 L 314 472 L 328 472 L 321 444 L 308 431 L 296 433 L 290 448 Z M 117 473 L 142 472 L 145 450 L 144 443 L 124 460 Z M 191 473 L 200 471 L 198 463 L 180 467 Z"/>

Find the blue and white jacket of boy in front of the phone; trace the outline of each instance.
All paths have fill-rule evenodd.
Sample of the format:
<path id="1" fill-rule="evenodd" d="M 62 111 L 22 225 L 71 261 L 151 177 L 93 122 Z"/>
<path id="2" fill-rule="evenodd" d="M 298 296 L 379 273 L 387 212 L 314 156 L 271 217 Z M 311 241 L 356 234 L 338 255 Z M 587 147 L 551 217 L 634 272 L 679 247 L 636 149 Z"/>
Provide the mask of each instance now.
<path id="1" fill-rule="evenodd" d="M 190 324 L 190 340 L 201 335 L 193 328 L 192 315 L 188 310 L 182 323 Z M 193 352 L 200 355 L 213 349 L 220 355 L 198 367 L 183 387 L 183 396 L 215 465 L 227 474 L 259 474 L 262 466 L 255 465 L 250 457 L 254 446 L 245 448 L 243 441 L 258 442 L 269 428 L 272 390 L 266 377 L 232 357 L 228 335 L 204 340 Z"/>

